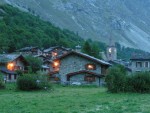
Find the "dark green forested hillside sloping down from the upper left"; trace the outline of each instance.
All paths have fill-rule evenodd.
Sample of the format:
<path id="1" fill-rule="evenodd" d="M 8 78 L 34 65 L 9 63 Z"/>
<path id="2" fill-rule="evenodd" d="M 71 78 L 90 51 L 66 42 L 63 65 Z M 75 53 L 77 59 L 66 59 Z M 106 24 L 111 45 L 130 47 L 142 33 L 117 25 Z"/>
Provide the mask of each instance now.
<path id="1" fill-rule="evenodd" d="M 13 52 L 25 46 L 47 48 L 63 45 L 73 48 L 82 43 L 83 39 L 69 30 L 62 30 L 12 6 L 0 6 L 1 52 Z"/>

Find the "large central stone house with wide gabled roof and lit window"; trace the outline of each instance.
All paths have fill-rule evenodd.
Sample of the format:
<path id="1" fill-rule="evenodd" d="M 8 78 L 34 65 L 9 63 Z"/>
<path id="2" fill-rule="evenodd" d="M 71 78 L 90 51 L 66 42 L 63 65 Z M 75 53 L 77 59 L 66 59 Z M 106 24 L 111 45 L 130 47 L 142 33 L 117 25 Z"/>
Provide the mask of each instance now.
<path id="1" fill-rule="evenodd" d="M 51 66 L 50 76 L 62 84 L 92 84 L 100 86 L 104 83 L 110 64 L 87 54 L 70 51 L 55 59 Z"/>

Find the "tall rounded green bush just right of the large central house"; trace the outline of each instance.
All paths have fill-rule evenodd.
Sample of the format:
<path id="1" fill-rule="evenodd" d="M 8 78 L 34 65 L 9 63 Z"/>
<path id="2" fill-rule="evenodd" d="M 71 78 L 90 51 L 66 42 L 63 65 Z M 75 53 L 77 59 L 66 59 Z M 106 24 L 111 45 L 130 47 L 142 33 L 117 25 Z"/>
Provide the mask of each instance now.
<path id="1" fill-rule="evenodd" d="M 122 67 L 112 67 L 106 76 L 108 91 L 124 92 L 126 89 L 126 72 Z"/>

